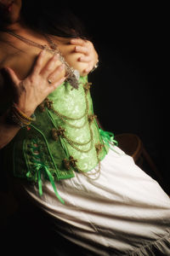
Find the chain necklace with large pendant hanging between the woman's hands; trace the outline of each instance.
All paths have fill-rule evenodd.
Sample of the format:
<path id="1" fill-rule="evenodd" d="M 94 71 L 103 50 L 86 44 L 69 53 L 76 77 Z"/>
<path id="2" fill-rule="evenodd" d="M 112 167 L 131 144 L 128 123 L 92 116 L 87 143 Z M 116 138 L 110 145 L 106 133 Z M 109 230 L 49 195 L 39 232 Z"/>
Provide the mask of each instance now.
<path id="1" fill-rule="evenodd" d="M 48 41 L 50 48 L 48 47 L 47 44 L 38 44 L 37 42 L 24 38 L 12 31 L 5 31 L 5 32 L 14 36 L 15 38 L 20 39 L 22 42 L 26 44 L 35 46 L 39 49 L 46 49 L 48 50 L 48 52 L 51 52 L 51 53 L 59 54 L 59 61 L 61 61 L 61 63 L 65 65 L 65 71 L 66 71 L 66 77 L 67 77 L 66 81 L 71 84 L 72 88 L 78 89 L 78 85 L 79 85 L 78 80 L 80 79 L 80 73 L 78 72 L 77 69 L 70 67 L 70 65 L 65 61 L 64 55 L 58 49 L 57 44 L 54 44 L 53 40 L 47 34 L 43 34 L 43 36 Z"/>

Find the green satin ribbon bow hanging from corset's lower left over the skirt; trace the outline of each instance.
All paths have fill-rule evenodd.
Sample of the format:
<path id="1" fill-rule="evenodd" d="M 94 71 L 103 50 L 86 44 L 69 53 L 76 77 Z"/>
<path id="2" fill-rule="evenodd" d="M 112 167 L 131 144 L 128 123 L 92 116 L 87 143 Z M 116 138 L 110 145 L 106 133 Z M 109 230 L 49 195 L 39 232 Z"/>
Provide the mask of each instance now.
<path id="1" fill-rule="evenodd" d="M 55 195 L 57 196 L 57 198 L 59 199 L 59 201 L 62 204 L 65 204 L 65 201 L 60 197 L 60 195 L 59 195 L 59 193 L 56 189 L 56 186 L 55 186 L 55 183 L 54 183 L 54 177 L 52 176 L 51 172 L 49 172 L 48 167 L 43 165 L 42 163 L 37 163 L 36 169 L 37 169 L 37 183 L 38 183 L 38 188 L 39 188 L 39 195 L 42 195 L 41 175 L 42 175 L 42 171 L 43 171 L 43 172 L 46 172 L 46 174 L 48 175 L 50 183 L 52 184 L 52 187 L 54 189 Z"/>

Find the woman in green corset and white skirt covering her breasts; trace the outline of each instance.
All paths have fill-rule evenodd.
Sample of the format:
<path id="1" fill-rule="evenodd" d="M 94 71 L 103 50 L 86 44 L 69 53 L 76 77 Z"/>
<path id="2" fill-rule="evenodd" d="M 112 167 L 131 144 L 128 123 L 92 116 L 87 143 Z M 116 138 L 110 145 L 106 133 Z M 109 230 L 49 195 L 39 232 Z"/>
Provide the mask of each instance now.
<path id="1" fill-rule="evenodd" d="M 87 80 L 98 55 L 77 21 L 49 1 L 34 21 L 35 3 L 0 3 L 5 169 L 82 255 L 170 255 L 169 198 L 99 129 Z"/>

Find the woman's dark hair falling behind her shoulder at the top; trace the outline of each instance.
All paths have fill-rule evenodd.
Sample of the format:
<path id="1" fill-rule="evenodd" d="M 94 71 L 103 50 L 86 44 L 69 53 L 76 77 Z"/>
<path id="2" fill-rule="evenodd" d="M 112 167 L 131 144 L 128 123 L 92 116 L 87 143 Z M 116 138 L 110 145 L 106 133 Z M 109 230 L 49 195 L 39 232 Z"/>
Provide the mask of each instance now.
<path id="1" fill-rule="evenodd" d="M 70 3 L 59 2 L 22 0 L 21 17 L 27 26 L 37 32 L 64 38 L 88 38 L 82 21 L 71 10 Z"/>

